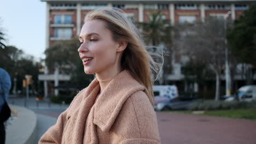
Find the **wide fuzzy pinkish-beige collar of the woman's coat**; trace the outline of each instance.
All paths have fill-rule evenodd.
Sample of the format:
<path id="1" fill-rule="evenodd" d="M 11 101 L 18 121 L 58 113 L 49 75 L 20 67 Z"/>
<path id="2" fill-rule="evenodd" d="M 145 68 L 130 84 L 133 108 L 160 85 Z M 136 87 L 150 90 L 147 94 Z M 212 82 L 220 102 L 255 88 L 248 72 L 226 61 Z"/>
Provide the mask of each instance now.
<path id="1" fill-rule="evenodd" d="M 92 81 L 91 86 L 98 89 L 97 79 Z M 89 86 L 90 87 L 90 86 Z M 126 99 L 137 91 L 144 91 L 145 87 L 137 82 L 129 71 L 123 70 L 110 81 L 102 91 L 94 104 L 94 124 L 102 131 L 108 131 L 117 118 Z"/>

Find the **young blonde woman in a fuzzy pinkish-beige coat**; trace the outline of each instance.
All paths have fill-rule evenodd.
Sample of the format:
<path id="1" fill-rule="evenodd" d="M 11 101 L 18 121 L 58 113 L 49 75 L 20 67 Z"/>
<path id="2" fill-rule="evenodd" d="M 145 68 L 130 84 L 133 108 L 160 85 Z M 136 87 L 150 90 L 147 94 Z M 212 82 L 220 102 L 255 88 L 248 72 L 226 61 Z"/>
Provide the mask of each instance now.
<path id="1" fill-rule="evenodd" d="M 150 63 L 137 28 L 117 9 L 85 17 L 79 56 L 96 78 L 39 143 L 160 143 Z"/>

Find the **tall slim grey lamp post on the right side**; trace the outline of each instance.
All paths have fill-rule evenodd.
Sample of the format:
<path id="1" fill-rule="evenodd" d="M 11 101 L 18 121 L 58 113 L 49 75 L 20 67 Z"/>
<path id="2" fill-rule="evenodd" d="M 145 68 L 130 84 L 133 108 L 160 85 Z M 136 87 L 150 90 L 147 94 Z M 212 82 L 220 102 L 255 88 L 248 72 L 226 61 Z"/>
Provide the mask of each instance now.
<path id="1" fill-rule="evenodd" d="M 228 11 L 224 15 L 224 31 L 226 32 L 226 19 L 231 14 L 231 11 Z M 225 79 L 226 79 L 226 95 L 231 94 L 231 82 L 230 82 L 230 70 L 229 70 L 229 61 L 228 61 L 228 43 L 226 41 L 225 35 Z"/>

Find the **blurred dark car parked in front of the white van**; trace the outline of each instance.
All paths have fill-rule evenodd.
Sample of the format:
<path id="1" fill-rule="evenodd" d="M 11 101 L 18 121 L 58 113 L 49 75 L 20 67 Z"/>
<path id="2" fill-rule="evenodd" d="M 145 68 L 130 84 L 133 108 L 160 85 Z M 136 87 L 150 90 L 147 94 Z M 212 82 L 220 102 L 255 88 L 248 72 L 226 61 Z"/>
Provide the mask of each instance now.
<path id="1" fill-rule="evenodd" d="M 154 108 L 156 111 L 188 110 L 189 106 L 194 102 L 195 100 L 179 100 L 179 98 L 174 98 L 162 103 L 158 103 Z"/>

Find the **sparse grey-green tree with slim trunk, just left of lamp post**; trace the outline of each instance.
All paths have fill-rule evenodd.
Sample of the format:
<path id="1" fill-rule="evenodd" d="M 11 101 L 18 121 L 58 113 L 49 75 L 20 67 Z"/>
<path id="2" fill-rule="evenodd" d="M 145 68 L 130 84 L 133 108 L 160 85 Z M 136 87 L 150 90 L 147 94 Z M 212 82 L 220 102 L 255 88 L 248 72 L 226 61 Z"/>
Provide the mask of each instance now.
<path id="1" fill-rule="evenodd" d="M 225 35 L 223 19 L 207 17 L 181 29 L 181 49 L 196 61 L 205 63 L 216 76 L 215 100 L 220 95 L 220 75 L 225 64 Z"/>

